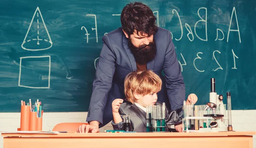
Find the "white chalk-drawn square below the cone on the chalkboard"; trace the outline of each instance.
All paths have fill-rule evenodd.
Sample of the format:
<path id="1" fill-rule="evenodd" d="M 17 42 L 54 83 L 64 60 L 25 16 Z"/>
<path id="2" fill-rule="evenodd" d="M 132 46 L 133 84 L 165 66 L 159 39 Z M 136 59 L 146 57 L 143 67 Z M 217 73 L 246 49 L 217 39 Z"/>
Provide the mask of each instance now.
<path id="1" fill-rule="evenodd" d="M 20 57 L 19 87 L 50 88 L 51 56 Z"/>

